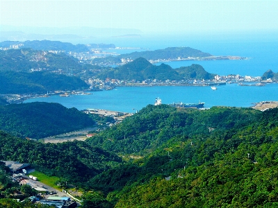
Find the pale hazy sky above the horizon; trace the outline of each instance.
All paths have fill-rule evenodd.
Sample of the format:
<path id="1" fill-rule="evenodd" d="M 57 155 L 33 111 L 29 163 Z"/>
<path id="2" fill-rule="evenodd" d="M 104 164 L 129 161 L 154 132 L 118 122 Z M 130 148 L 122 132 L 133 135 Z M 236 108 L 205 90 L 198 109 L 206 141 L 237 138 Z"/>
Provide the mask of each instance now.
<path id="1" fill-rule="evenodd" d="M 178 31 L 278 31 L 278 1 L 2 1 L 0 24 Z"/>

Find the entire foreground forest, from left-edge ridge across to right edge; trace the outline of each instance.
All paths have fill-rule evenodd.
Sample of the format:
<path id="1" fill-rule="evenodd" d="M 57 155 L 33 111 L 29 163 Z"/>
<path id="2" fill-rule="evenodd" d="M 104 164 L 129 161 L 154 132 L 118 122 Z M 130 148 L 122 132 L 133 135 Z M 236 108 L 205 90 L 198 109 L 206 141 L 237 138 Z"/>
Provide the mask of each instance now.
<path id="1" fill-rule="evenodd" d="M 85 142 L 1 132 L 1 159 L 72 180 L 83 207 L 275 207 L 277 122 L 277 108 L 147 105 Z"/>

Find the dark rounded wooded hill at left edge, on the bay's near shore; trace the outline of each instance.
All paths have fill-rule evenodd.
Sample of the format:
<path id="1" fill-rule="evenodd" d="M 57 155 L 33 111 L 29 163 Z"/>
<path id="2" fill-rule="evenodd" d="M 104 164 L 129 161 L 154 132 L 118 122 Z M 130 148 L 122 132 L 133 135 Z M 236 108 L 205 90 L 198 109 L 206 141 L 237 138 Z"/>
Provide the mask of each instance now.
<path id="1" fill-rule="evenodd" d="M 95 125 L 88 114 L 58 103 L 22 103 L 0 106 L 0 130 L 40 139 Z"/>

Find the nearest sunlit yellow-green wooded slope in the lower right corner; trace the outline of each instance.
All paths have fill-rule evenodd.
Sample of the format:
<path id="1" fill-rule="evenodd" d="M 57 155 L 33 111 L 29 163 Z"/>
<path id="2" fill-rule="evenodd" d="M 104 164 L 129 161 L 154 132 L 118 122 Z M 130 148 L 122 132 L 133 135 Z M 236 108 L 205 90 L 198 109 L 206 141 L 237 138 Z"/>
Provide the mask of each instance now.
<path id="1" fill-rule="evenodd" d="M 115 192 L 115 207 L 277 207 L 277 112 L 243 128 L 168 141 L 169 156 L 161 149 L 139 166 L 152 159 L 156 176 Z"/>

